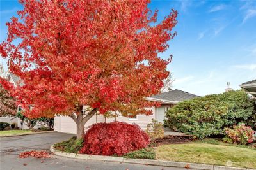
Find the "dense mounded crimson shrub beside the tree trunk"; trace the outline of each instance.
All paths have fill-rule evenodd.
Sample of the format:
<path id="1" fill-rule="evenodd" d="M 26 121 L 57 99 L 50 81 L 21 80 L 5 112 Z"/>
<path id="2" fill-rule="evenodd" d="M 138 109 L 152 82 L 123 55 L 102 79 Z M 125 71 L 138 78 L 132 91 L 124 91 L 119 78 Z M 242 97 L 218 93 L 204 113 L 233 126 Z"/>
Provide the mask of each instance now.
<path id="1" fill-rule="evenodd" d="M 145 148 L 149 136 L 138 125 L 125 122 L 94 124 L 84 136 L 79 153 L 93 155 L 124 155 Z"/>

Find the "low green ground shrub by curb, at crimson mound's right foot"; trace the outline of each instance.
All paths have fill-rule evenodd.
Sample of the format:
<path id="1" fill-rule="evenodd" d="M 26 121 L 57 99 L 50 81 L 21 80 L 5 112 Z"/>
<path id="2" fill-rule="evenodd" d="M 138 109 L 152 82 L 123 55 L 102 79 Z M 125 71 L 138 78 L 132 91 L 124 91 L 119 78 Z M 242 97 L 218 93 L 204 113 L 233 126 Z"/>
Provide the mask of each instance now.
<path id="1" fill-rule="evenodd" d="M 156 159 L 156 152 L 154 148 L 143 148 L 141 150 L 129 152 L 124 155 L 124 157 L 134 159 Z"/>

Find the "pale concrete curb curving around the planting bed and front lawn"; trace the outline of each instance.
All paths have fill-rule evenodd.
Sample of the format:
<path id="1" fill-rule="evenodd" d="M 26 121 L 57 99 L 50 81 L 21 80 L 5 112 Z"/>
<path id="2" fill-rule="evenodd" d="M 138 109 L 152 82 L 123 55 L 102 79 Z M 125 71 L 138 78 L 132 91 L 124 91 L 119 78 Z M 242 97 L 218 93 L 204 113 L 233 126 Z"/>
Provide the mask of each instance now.
<path id="1" fill-rule="evenodd" d="M 61 157 L 69 157 L 74 159 L 86 159 L 86 160 L 103 160 L 109 162 L 123 162 L 123 163 L 132 163 L 132 164 L 146 164 L 152 166 L 166 166 L 166 167 L 189 167 L 189 169 L 205 169 L 205 170 L 255 170 L 255 169 L 246 169 L 240 167 L 227 167 L 227 166 L 214 166 L 210 164 L 196 164 L 189 162 L 173 162 L 166 160 L 152 160 L 152 159 L 130 159 L 124 157 L 111 157 L 111 156 L 102 156 L 102 155 L 86 155 L 86 154 L 76 154 L 76 153 L 67 153 L 61 152 L 54 149 L 53 145 L 50 148 L 51 152 L 55 155 Z"/>

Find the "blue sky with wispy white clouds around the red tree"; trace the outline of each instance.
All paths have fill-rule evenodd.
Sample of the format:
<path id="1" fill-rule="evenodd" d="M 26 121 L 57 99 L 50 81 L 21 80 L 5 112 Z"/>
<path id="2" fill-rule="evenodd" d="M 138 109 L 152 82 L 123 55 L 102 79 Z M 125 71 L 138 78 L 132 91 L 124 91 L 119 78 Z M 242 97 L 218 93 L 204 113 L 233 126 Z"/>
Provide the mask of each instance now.
<path id="1" fill-rule="evenodd" d="M 6 39 L 5 23 L 22 9 L 17 1 L 0 1 L 0 41 Z M 158 20 L 174 8 L 179 12 L 177 36 L 159 54 L 173 55 L 168 66 L 174 89 L 204 96 L 233 89 L 256 78 L 256 1 L 152 1 Z M 0 63 L 6 68 L 6 60 Z"/>

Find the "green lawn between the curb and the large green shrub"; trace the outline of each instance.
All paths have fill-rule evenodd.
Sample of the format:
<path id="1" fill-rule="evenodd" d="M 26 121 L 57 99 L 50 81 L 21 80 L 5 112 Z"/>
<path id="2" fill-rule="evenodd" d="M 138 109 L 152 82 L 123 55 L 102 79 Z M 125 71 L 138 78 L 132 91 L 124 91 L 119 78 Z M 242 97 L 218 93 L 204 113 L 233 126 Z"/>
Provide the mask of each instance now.
<path id="1" fill-rule="evenodd" d="M 194 162 L 234 167 L 256 168 L 256 150 L 230 145 L 188 143 L 162 145 L 156 148 L 159 160 Z M 232 162 L 230 162 L 232 161 Z"/>

